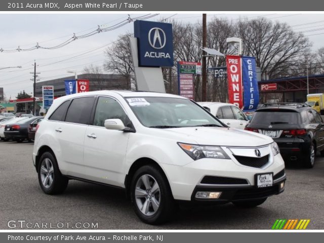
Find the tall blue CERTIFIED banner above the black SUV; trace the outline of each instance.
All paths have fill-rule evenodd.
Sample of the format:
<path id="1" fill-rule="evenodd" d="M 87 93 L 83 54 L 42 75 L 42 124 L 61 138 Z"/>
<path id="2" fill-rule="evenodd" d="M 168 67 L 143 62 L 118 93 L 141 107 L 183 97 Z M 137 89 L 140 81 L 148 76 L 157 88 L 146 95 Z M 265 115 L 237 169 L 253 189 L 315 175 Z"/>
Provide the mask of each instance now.
<path id="1" fill-rule="evenodd" d="M 259 89 L 255 57 L 242 57 L 244 111 L 254 111 L 259 104 Z"/>

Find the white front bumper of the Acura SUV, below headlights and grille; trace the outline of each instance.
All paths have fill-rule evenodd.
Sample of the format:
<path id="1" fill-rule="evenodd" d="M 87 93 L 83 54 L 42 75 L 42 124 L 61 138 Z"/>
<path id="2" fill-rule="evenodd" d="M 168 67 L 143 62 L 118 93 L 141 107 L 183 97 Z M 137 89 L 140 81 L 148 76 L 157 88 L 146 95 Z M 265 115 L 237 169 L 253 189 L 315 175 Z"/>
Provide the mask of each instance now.
<path id="1" fill-rule="evenodd" d="M 211 189 L 219 189 L 217 191 L 227 191 L 223 199 L 229 201 L 233 200 L 233 197 L 237 191 L 249 190 L 255 188 L 255 175 L 260 173 L 273 173 L 273 175 L 279 174 L 285 169 L 284 160 L 280 154 L 272 156 L 273 160 L 265 168 L 254 168 L 239 164 L 232 159 L 213 159 L 203 158 L 192 161 L 186 166 L 174 166 L 168 164 L 160 164 L 165 174 L 168 177 L 168 181 L 171 186 L 173 197 L 176 200 L 192 201 L 192 195 L 197 188 L 205 188 L 205 190 L 211 191 Z M 205 176 L 217 176 L 217 177 L 229 177 L 239 178 L 247 181 L 245 185 L 231 184 L 203 184 L 201 181 Z M 283 175 L 277 180 L 273 181 L 275 185 L 286 180 L 286 176 Z M 240 188 L 242 187 L 242 188 Z M 222 190 L 220 190 L 220 188 Z M 249 191 L 246 191 L 249 192 Z M 278 194 L 275 191 L 273 194 Z M 205 200 L 205 199 L 204 199 Z M 214 200 L 214 199 L 213 199 Z"/>

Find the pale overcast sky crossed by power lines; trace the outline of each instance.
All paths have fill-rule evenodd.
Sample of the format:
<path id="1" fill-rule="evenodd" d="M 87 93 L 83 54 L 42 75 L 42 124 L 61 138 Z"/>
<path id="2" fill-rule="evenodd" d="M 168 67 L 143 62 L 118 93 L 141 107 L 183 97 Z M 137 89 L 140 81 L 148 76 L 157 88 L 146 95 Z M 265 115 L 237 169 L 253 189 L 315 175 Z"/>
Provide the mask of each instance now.
<path id="1" fill-rule="evenodd" d="M 131 17 L 143 14 L 131 14 Z M 324 47 L 324 14 L 208 14 L 211 18 L 222 17 L 237 20 L 241 17 L 249 19 L 258 16 L 273 21 L 286 22 L 296 31 L 304 32 L 313 43 L 313 50 Z M 148 19 L 150 21 L 162 18 L 174 18 L 183 22 L 197 22 L 201 14 L 160 14 Z M 0 49 L 11 50 L 30 48 L 36 45 L 45 47 L 56 46 L 68 38 L 95 30 L 98 25 L 111 26 L 128 18 L 127 14 L 0 14 Z M 321 22 L 319 22 L 321 21 Z M 317 23 L 314 23 L 317 22 Z M 299 25 L 299 26 L 296 26 Z M 0 87 L 4 88 L 7 98 L 15 98 L 18 92 L 32 92 L 33 60 L 37 63 L 37 72 L 41 72 L 41 81 L 72 75 L 67 70 L 81 74 L 85 66 L 103 65 L 105 45 L 116 40 L 125 32 L 133 32 L 133 23 L 116 30 L 102 32 L 84 39 L 77 39 L 71 44 L 56 50 L 34 50 L 29 52 L 1 53 L 0 52 Z M 105 46 L 105 47 L 104 47 Z M 102 47 L 102 48 L 100 48 Z M 97 50 L 94 50 L 97 49 Z M 91 52 L 89 52 L 91 51 Z M 64 60 L 85 52 L 86 55 L 70 60 Z M 60 61 L 60 62 L 58 62 Z M 58 63 L 55 63 L 58 62 Z M 53 64 L 51 64 L 53 63 Z M 50 64 L 50 65 L 47 65 Z M 22 68 L 1 69 L 9 66 Z"/>

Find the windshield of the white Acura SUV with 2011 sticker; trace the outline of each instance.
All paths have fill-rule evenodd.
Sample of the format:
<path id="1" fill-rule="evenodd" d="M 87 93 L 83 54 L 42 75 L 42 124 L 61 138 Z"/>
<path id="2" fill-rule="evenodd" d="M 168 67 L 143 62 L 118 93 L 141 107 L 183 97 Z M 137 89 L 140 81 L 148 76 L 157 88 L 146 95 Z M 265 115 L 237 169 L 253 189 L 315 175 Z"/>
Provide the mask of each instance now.
<path id="1" fill-rule="evenodd" d="M 223 127 L 203 107 L 187 99 L 133 97 L 126 98 L 126 100 L 137 118 L 146 127 Z"/>

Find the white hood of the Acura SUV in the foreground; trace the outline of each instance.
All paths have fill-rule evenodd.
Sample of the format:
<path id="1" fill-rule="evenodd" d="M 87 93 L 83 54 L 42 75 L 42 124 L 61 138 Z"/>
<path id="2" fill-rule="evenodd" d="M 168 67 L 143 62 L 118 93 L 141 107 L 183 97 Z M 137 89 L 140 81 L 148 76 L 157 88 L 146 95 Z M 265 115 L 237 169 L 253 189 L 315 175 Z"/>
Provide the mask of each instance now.
<path id="1" fill-rule="evenodd" d="M 268 136 L 234 128 L 190 127 L 164 129 L 164 131 L 170 136 L 175 135 L 177 139 L 183 137 L 194 140 L 200 145 L 257 147 L 273 142 L 273 139 Z"/>

